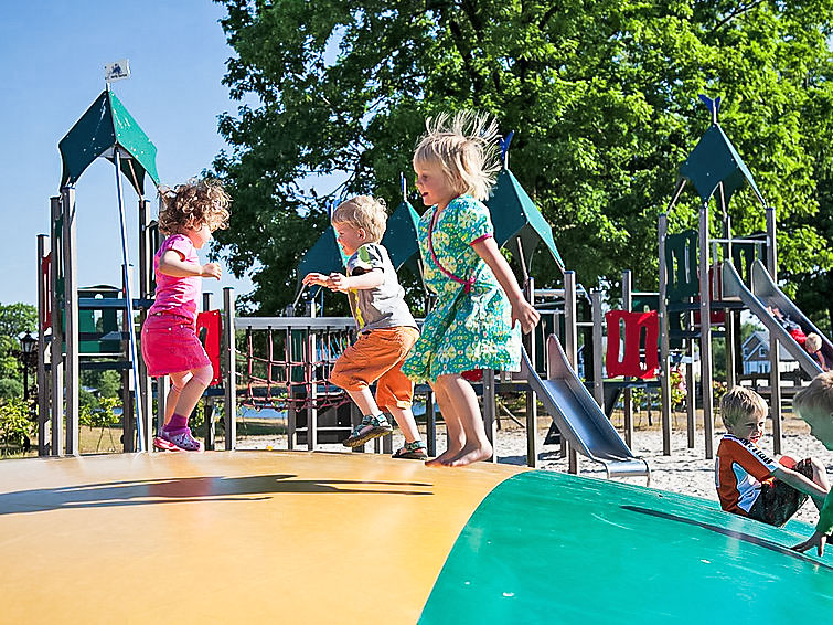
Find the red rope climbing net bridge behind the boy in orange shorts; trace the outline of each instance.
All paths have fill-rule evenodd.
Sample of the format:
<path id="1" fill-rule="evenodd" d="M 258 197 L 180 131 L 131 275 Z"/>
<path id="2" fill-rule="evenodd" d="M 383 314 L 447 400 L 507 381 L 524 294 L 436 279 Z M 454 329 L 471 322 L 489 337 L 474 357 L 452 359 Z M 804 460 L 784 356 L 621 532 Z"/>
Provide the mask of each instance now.
<path id="1" fill-rule="evenodd" d="M 255 410 L 325 410 L 350 401 L 329 383 L 335 360 L 352 342 L 352 328 L 246 328 L 237 351 L 239 403 Z"/>

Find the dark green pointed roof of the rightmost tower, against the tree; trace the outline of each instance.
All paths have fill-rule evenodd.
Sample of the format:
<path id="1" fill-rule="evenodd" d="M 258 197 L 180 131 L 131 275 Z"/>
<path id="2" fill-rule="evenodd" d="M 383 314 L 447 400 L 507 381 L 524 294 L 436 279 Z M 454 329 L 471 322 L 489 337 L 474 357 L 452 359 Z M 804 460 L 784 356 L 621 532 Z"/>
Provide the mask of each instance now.
<path id="1" fill-rule="evenodd" d="M 729 198 L 748 182 L 761 204 L 766 204 L 752 174 L 737 153 L 735 146 L 718 124 L 706 130 L 699 142 L 680 168 L 680 178 L 688 180 L 697 190 L 703 202 L 707 202 L 723 182 L 726 203 Z"/>

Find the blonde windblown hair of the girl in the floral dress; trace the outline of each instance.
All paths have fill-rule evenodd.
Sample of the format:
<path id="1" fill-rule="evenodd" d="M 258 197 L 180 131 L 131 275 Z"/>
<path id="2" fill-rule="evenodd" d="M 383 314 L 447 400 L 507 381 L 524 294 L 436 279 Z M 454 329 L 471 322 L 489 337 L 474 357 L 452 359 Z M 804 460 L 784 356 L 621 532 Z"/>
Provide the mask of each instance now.
<path id="1" fill-rule="evenodd" d="M 459 194 L 489 198 L 498 161 L 498 123 L 488 114 L 461 110 L 425 121 L 426 134 L 414 152 L 414 165 L 438 167 Z"/>

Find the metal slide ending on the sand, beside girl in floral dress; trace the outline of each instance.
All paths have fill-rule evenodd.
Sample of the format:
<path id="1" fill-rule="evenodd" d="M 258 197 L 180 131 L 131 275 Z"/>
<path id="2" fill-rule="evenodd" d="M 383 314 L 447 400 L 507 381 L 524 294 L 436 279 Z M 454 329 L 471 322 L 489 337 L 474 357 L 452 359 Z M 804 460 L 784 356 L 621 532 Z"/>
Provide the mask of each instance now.
<path id="1" fill-rule="evenodd" d="M 542 380 L 535 372 L 526 350 L 521 357 L 521 374 L 574 449 L 605 465 L 609 478 L 644 476 L 650 483 L 648 463 L 636 457 L 621 439 L 573 371 L 558 339 L 554 336 L 547 339 L 548 380 Z"/>

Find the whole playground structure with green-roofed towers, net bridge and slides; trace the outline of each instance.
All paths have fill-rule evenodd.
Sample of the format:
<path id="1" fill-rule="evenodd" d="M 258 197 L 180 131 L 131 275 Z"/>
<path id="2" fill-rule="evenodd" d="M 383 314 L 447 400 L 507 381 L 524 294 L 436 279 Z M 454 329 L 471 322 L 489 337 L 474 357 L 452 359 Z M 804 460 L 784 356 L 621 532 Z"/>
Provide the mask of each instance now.
<path id="1" fill-rule="evenodd" d="M 731 237 L 726 210 L 731 194 L 748 182 L 763 206 L 766 202 L 717 123 L 719 100 L 709 100 L 707 104 L 712 107 L 713 124 L 681 167 L 680 181 L 673 199 L 666 213 L 660 216 L 660 290 L 634 292 L 630 272 L 626 271 L 622 274 L 621 309 L 606 311 L 604 294 L 598 289 L 587 294 L 576 283 L 575 273 L 565 269 L 548 224 L 509 169 L 511 136 L 502 141 L 504 167 L 498 176 L 493 195 L 488 201 L 493 215 L 495 240 L 512 252 L 522 276 L 521 282 L 525 285 L 526 296 L 540 308 L 543 321 L 540 328 L 525 339 L 528 359 L 524 362 L 522 374 L 483 371 L 474 379 L 473 385 L 482 398 L 487 434 L 492 441 L 496 435 L 496 395 L 526 393 L 526 455 L 531 467 L 537 465 L 538 442 L 535 425 L 537 400 L 541 400 L 545 411 L 553 419 L 547 442 L 562 443 L 562 453 L 569 454 L 572 473 L 578 470 L 578 452 L 604 464 L 610 476 L 649 476 L 647 465 L 633 458 L 629 451 L 633 442 L 631 393 L 634 389 L 659 389 L 663 453 L 670 455 L 670 371 L 685 362 L 686 428 L 688 446 L 693 447 L 697 404 L 693 357 L 698 347 L 701 379 L 711 380 L 711 340 L 716 333 L 712 331 L 712 325 L 725 326 L 729 384 L 737 381 L 736 341 L 739 336 L 739 310 L 746 306 L 758 316 L 762 314 L 761 306 L 755 304 L 759 301 L 756 295 L 762 296 L 766 290 L 766 301 L 779 304 L 783 310 L 789 311 L 791 318 L 799 319 L 808 329 L 811 326 L 800 311 L 786 300 L 771 278 L 775 275 L 776 250 L 772 209 L 766 209 L 768 233 L 765 240 Z M 89 126 L 85 119 L 90 112 L 111 118 L 113 133 L 104 136 L 84 135 L 85 128 Z M 130 133 L 126 134 L 125 128 Z M 86 137 L 87 142 L 79 137 Z M 70 138 L 73 138 L 75 144 L 81 144 L 81 148 L 75 146 L 81 157 L 73 157 L 73 141 L 67 141 Z M 42 276 L 39 290 L 42 320 L 39 345 L 42 354 L 50 354 L 49 359 L 41 359 L 42 364 L 39 367 L 39 389 L 44 389 L 44 392 L 39 394 L 39 453 L 79 453 L 77 372 L 82 368 L 110 368 L 122 371 L 124 448 L 147 449 L 154 425 L 153 415 L 157 425 L 160 425 L 164 413 L 167 380 L 160 379 L 154 382 L 147 377 L 140 359 L 136 358 L 135 327 L 127 322 L 127 319 L 132 318 L 135 308 L 139 311 L 138 321 L 143 321 L 145 311 L 152 303 L 152 254 L 158 245 L 159 234 L 156 222 L 150 220 L 149 202 L 142 198 L 142 181 L 146 172 L 154 182 L 158 181 L 153 162 L 156 148 L 115 94 L 107 89 L 62 141 L 62 155 L 65 159 L 62 192 L 60 197 L 51 200 L 53 232 L 49 254 L 45 253 L 46 237 L 39 237 L 38 262 Z M 139 289 L 136 298 L 129 295 L 131 272 L 126 251 L 121 289 L 85 292 L 75 286 L 74 182 L 96 156 L 113 160 L 117 171 L 126 172 L 139 194 Z M 121 205 L 120 176 L 117 176 L 117 181 Z M 669 234 L 668 212 L 673 209 L 688 182 L 697 190 L 703 202 L 699 214 L 701 227 L 697 231 Z M 711 237 L 708 232 L 708 203 L 713 197 L 717 197 L 722 211 L 722 239 Z M 124 213 L 124 209 L 120 212 Z M 416 244 L 417 221 L 416 211 L 407 202 L 403 180 L 403 202 L 388 221 L 383 243 L 391 248 L 391 256 L 397 269 L 406 266 L 421 277 Z M 563 272 L 564 288 L 535 288 L 528 265 L 535 247 L 542 242 Z M 770 263 L 769 272 L 760 263 L 762 256 Z M 720 257 L 730 258 L 734 264 L 720 263 Z M 306 271 L 340 271 L 343 261 L 334 235 L 328 229 L 299 264 L 299 278 Z M 744 278 L 734 278 L 736 274 L 731 272 L 735 265 L 745 268 Z M 749 283 L 752 279 L 750 276 L 763 274 L 768 276 L 769 282 L 762 277 L 757 278 L 756 295 L 748 289 L 745 290 L 744 283 Z M 725 293 L 723 283 L 726 284 Z M 581 295 L 583 301 L 577 299 L 577 294 Z M 330 385 L 328 379 L 333 362 L 352 338 L 354 324 L 351 318 L 318 317 L 312 294 L 307 301 L 307 315 L 300 317 L 295 316 L 293 306 L 288 310 L 290 315 L 287 317 L 235 318 L 233 289 L 224 289 L 222 312 L 210 310 L 210 299 L 211 296 L 206 294 L 205 310 L 199 321 L 203 328 L 201 336 L 215 367 L 213 385 L 206 392 L 206 448 L 215 447 L 214 406 L 218 398 L 222 398 L 226 449 L 235 448 L 235 415 L 238 403 L 254 409 L 285 411 L 287 446 L 290 449 L 303 444 L 308 449 L 314 449 L 320 443 L 334 443 L 346 435 L 361 415 L 356 414 L 346 394 Z M 580 320 L 584 300 L 589 304 L 590 320 Z M 425 304 L 427 309 L 430 305 L 427 294 Z M 763 308 L 766 309 L 766 304 Z M 61 310 L 63 314 L 53 314 Z M 96 314 L 98 318 L 95 317 Z M 121 315 L 120 320 L 118 315 Z M 712 322 L 701 325 L 698 319 L 704 318 Z M 789 336 L 786 338 L 782 329 L 779 331 L 780 325 L 775 319 L 762 320 L 768 327 L 775 328 L 770 333 L 772 341 L 780 339 L 789 346 L 791 352 L 799 350 L 797 358 L 800 362 L 803 362 L 802 358 L 808 360 L 807 354 L 794 341 L 789 339 Z M 607 332 L 604 330 L 605 326 Z M 576 373 L 579 370 L 579 333 L 584 336 L 586 381 Z M 551 338 L 551 335 L 557 336 L 558 339 Z M 238 340 L 242 341 L 241 349 L 237 349 Z M 793 345 L 790 345 L 790 341 Z M 825 342 L 825 353 L 831 349 L 833 348 L 830 342 Z M 772 349 L 770 354 L 777 359 L 778 351 Z M 47 362 L 44 362 L 45 360 Z M 803 367 L 808 372 L 812 369 L 807 362 L 803 362 Z M 132 371 L 132 378 L 128 375 L 128 371 Z M 777 363 L 772 371 L 773 377 L 777 377 Z M 591 389 L 592 395 L 587 393 L 585 386 Z M 60 393 L 54 392 L 54 389 L 61 388 L 66 389 L 65 407 Z M 134 389 L 139 391 L 136 392 Z M 707 457 L 713 455 L 712 392 L 709 384 L 701 384 L 699 403 L 703 406 Z M 417 393 L 424 395 L 426 402 L 428 452 L 436 454 L 432 392 L 428 386 L 420 386 L 417 388 Z M 620 395 L 623 399 L 624 413 L 623 441 L 607 419 Z M 587 402 L 590 396 L 595 398 L 595 402 Z M 775 381 L 772 404 L 776 414 L 776 406 L 780 406 L 780 388 Z M 65 439 L 62 438 L 62 414 L 66 415 Z M 135 415 L 135 419 L 129 419 L 128 415 Z M 773 430 L 778 449 L 778 420 L 773 420 Z M 46 441 L 50 441 L 49 445 Z M 380 442 L 374 445 L 376 451 L 380 451 Z M 386 437 L 381 446 L 382 451 L 389 452 L 389 437 Z"/>

